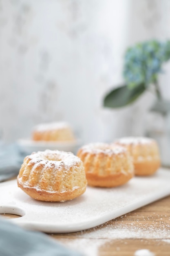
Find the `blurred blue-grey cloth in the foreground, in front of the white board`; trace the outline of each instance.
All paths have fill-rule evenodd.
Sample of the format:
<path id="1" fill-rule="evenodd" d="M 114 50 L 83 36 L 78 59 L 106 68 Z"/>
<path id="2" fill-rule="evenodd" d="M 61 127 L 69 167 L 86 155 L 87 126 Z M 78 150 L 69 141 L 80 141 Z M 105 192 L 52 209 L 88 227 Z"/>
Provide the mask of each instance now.
<path id="1" fill-rule="evenodd" d="M 0 256 L 81 256 L 38 231 L 0 218 Z"/>

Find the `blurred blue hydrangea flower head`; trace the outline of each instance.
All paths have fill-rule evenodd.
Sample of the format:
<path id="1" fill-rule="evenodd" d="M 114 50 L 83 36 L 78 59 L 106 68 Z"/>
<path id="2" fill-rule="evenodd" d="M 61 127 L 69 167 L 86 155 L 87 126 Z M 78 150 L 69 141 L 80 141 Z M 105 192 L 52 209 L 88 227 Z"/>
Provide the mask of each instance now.
<path id="1" fill-rule="evenodd" d="M 170 59 L 170 40 L 151 40 L 127 49 L 124 56 L 124 79 L 130 88 L 140 83 L 146 87 L 157 80 L 163 62 Z"/>

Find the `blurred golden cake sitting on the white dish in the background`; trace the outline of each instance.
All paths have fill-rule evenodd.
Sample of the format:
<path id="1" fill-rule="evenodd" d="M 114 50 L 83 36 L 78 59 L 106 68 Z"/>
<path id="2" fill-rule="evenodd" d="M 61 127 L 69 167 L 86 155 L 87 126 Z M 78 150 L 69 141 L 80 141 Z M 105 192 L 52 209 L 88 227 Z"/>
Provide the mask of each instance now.
<path id="1" fill-rule="evenodd" d="M 32 133 L 35 141 L 74 141 L 71 126 L 66 122 L 53 122 L 35 126 Z"/>

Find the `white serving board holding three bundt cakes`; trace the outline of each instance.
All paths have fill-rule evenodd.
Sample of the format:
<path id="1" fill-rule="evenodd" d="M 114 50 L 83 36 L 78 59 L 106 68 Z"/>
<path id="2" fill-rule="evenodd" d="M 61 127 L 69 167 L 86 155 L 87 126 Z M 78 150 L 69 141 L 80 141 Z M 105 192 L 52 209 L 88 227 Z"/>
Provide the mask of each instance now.
<path id="1" fill-rule="evenodd" d="M 0 184 L 0 213 L 21 215 L 9 221 L 47 233 L 80 231 L 117 218 L 170 195 L 170 170 L 160 168 L 150 177 L 134 177 L 117 188 L 87 187 L 67 202 L 33 200 L 16 180 Z"/>

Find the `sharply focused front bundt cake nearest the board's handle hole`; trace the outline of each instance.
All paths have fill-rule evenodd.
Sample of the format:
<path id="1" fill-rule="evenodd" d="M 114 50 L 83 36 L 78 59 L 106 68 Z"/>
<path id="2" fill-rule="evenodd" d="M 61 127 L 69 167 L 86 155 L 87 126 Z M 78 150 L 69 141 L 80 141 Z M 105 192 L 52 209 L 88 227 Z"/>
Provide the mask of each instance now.
<path id="1" fill-rule="evenodd" d="M 32 198 L 64 202 L 82 195 L 87 180 L 83 162 L 71 152 L 45 150 L 24 158 L 18 186 Z"/>

